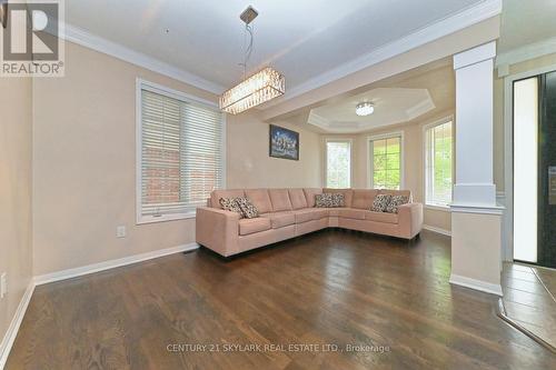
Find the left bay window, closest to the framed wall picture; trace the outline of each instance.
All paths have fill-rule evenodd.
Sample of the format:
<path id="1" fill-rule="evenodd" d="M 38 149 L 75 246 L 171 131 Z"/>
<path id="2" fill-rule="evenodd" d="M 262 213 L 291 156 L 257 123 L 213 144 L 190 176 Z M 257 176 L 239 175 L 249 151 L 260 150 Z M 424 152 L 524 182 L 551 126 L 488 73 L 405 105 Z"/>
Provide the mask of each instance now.
<path id="1" fill-rule="evenodd" d="M 351 141 L 326 141 L 326 187 L 334 189 L 351 187 Z"/>

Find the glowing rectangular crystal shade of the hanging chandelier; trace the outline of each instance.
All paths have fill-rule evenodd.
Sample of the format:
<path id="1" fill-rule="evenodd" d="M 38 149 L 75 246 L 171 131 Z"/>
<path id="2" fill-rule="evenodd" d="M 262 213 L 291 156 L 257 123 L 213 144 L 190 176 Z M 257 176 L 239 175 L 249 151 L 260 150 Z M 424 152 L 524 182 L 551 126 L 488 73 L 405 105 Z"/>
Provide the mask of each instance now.
<path id="1" fill-rule="evenodd" d="M 237 114 L 258 104 L 262 104 L 286 92 L 284 74 L 267 67 L 255 73 L 220 97 L 220 109 Z"/>

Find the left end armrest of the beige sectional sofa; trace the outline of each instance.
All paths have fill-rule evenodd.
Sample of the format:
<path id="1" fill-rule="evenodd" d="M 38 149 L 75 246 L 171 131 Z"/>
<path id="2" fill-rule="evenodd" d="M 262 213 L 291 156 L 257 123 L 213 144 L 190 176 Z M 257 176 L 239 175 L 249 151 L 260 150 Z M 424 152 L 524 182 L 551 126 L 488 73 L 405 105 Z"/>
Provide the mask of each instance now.
<path id="1" fill-rule="evenodd" d="M 239 251 L 239 214 L 217 208 L 197 208 L 196 241 L 228 257 Z"/>

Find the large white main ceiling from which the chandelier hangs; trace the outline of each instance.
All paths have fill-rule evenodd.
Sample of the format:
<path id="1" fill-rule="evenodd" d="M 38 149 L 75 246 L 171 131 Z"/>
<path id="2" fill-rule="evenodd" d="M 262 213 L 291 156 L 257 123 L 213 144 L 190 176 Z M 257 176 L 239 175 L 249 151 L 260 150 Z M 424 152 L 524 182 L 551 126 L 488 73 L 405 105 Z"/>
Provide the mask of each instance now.
<path id="1" fill-rule="evenodd" d="M 248 70 L 274 66 L 290 89 L 484 1 L 72 0 L 66 22 L 224 89 L 242 78 L 239 13 L 252 4 Z"/>

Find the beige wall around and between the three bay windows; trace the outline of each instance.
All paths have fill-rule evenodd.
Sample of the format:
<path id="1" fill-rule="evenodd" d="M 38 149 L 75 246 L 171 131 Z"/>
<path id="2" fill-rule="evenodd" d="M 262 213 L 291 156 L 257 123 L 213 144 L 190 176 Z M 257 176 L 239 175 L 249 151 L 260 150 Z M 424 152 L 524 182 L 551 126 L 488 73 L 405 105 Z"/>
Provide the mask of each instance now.
<path id="1" fill-rule="evenodd" d="M 414 200 L 424 202 L 424 136 L 423 127 L 439 119 L 455 116 L 454 111 L 446 111 L 436 117 L 426 120 L 415 120 L 408 124 L 394 126 L 385 129 L 378 129 L 370 132 L 364 132 L 354 136 L 327 136 L 321 138 L 321 153 L 325 152 L 325 140 L 327 138 L 348 138 L 353 140 L 353 177 L 351 186 L 354 188 L 367 188 L 369 176 L 367 163 L 367 139 L 376 134 L 389 132 L 404 132 L 404 188 L 411 190 Z M 324 157 L 324 154 L 321 154 Z M 324 178 L 322 169 L 322 178 Z M 425 208 L 425 224 L 443 230 L 451 229 L 450 213 L 448 210 L 436 210 Z"/>

